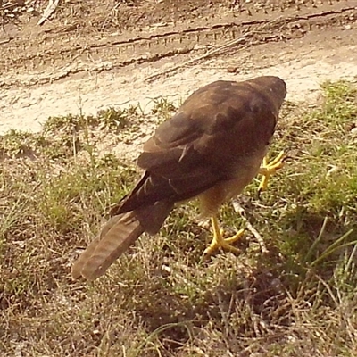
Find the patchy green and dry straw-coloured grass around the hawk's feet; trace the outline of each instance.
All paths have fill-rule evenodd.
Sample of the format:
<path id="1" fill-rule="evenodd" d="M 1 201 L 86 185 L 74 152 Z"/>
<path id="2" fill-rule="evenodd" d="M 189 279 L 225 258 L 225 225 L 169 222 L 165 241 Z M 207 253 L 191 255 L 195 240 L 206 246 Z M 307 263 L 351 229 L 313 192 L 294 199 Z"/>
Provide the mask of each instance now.
<path id="1" fill-rule="evenodd" d="M 1 137 L 1 355 L 356 355 L 357 88 L 323 92 L 313 109 L 285 104 L 270 155 L 286 150 L 286 166 L 260 200 L 258 180 L 240 198 L 269 253 L 246 230 L 239 256 L 201 262 L 211 236 L 189 203 L 94 283 L 71 264 L 140 174 L 101 145 L 148 118 L 110 109 Z M 173 110 L 160 99 L 153 113 Z M 221 220 L 245 226 L 230 203 Z"/>

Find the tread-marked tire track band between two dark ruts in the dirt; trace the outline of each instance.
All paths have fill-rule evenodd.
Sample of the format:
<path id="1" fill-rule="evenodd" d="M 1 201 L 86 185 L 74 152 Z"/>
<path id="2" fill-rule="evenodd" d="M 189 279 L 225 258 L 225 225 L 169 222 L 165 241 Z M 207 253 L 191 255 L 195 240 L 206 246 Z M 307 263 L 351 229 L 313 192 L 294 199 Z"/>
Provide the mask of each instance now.
<path id="1" fill-rule="evenodd" d="M 169 31 L 156 29 L 151 34 L 123 35 L 118 39 L 62 40 L 62 46 L 51 46 L 51 43 L 55 44 L 52 38 L 52 41 L 40 42 L 36 51 L 29 50 L 26 43 L 19 45 L 21 50 L 17 45 L 6 46 L 0 58 L 0 72 L 3 73 L 0 87 L 44 84 L 81 71 L 107 71 L 132 63 L 155 62 L 178 54 L 202 54 L 209 48 L 222 46 L 242 36 L 244 41 L 237 41 L 236 46 L 289 40 L 303 37 L 314 29 L 346 25 L 357 18 L 356 6 L 345 6 L 340 2 L 329 5 L 325 11 L 320 8 L 313 10 L 312 13 L 305 10 L 299 14 L 270 14 L 269 19 L 266 16 L 263 19 L 229 21 L 210 26 L 191 25 L 191 28 L 186 28 L 181 24 Z M 17 79 L 14 72 L 19 71 L 37 72 L 37 76 L 30 76 L 27 80 Z"/>

